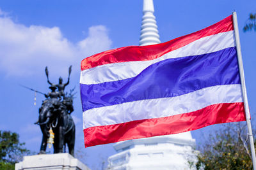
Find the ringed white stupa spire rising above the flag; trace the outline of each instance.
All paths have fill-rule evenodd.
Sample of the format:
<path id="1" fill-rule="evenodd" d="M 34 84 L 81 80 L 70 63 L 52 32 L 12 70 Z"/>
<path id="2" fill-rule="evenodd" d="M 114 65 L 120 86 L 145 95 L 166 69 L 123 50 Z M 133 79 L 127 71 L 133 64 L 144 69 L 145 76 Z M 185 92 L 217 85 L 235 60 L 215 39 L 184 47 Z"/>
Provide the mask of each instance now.
<path id="1" fill-rule="evenodd" d="M 143 17 L 140 32 L 140 45 L 161 43 L 154 16 L 153 0 L 143 0 Z"/>

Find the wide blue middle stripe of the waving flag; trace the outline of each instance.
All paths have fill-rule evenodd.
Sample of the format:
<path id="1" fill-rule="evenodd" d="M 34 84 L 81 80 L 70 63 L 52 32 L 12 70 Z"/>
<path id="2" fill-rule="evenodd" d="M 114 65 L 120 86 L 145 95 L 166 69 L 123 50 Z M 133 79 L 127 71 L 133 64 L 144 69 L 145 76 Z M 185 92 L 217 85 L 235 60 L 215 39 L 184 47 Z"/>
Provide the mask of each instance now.
<path id="1" fill-rule="evenodd" d="M 214 85 L 239 84 L 237 66 L 236 47 L 166 59 L 148 66 L 134 78 L 81 84 L 83 111 L 131 101 L 181 96 Z"/>

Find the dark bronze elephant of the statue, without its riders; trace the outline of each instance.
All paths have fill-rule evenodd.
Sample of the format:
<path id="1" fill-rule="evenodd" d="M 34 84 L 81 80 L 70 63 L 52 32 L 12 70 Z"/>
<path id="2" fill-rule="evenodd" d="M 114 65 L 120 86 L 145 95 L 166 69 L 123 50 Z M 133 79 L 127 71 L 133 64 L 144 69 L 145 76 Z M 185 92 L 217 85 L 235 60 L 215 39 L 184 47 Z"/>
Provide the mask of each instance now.
<path id="1" fill-rule="evenodd" d="M 74 143 L 76 126 L 70 113 L 73 111 L 72 98 L 64 97 L 63 101 L 58 99 L 45 99 L 39 109 L 39 118 L 36 124 L 40 125 L 42 131 L 42 143 L 39 153 L 45 153 L 49 129 L 54 132 L 54 153 L 68 152 L 74 156 Z"/>

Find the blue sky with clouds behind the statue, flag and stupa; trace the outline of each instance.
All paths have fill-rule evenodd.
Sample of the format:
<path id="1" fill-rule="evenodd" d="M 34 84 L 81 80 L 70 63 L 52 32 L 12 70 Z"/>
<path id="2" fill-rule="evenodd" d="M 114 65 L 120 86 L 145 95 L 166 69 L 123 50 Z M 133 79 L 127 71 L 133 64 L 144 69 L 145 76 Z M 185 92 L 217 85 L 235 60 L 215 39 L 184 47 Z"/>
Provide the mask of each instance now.
<path id="1" fill-rule="evenodd" d="M 44 73 L 57 83 L 67 81 L 68 66 L 73 70 L 67 90 L 79 90 L 79 64 L 93 53 L 121 46 L 138 45 L 142 0 L 1 0 L 0 1 L 0 129 L 18 132 L 26 147 L 38 152 L 41 132 L 34 125 L 43 96 L 19 86 L 48 92 Z M 242 31 L 255 1 L 154 1 L 155 16 L 162 42 L 212 25 L 237 11 L 248 101 L 252 118 L 256 112 L 255 63 L 256 32 Z M 76 150 L 92 169 L 115 153 L 112 144 L 84 148 L 82 109 L 79 95 L 72 113 L 76 122 Z M 196 143 L 214 126 L 193 131 Z"/>

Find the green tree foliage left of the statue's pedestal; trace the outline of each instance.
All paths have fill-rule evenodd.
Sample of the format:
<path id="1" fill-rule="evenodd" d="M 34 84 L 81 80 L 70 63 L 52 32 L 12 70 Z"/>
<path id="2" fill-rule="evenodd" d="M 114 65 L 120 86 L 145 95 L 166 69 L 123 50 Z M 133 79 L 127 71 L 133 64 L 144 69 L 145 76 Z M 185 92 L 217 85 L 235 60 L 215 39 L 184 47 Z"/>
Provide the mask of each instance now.
<path id="1" fill-rule="evenodd" d="M 10 131 L 0 131 L 0 169 L 14 169 L 14 164 L 29 155 L 24 148 L 25 143 L 19 142 L 19 134 Z"/>

